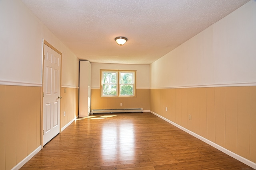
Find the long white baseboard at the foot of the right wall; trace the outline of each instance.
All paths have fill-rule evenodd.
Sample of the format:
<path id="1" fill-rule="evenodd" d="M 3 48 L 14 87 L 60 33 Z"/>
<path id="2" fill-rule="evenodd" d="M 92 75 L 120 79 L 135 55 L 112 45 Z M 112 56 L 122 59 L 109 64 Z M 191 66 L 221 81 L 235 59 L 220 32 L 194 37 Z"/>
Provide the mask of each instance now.
<path id="1" fill-rule="evenodd" d="M 240 162 L 243 162 L 244 164 L 256 169 L 256 163 L 254 163 L 254 162 L 252 162 L 252 161 L 250 161 L 250 160 L 248 160 L 248 159 L 246 159 L 246 158 L 244 158 L 244 157 L 242 157 L 242 156 L 240 156 L 240 155 L 238 155 L 234 152 L 231 152 L 230 150 L 228 150 L 224 147 L 221 147 L 220 145 L 218 145 L 216 143 L 213 143 L 212 141 L 209 141 L 208 139 L 206 139 L 206 138 L 204 138 L 204 137 L 202 137 L 202 136 L 200 136 L 200 135 L 198 135 L 198 134 L 196 134 L 196 133 L 194 133 L 194 132 L 192 132 L 192 131 L 190 131 L 190 130 L 188 130 L 188 129 L 186 129 L 186 128 L 184 128 L 184 127 L 182 127 L 182 126 L 180 126 L 176 123 L 174 123 L 173 121 L 170 121 L 169 119 L 166 119 L 165 117 L 162 117 L 161 115 L 158 115 L 157 113 L 154 113 L 153 111 L 150 111 L 150 113 L 160 117 L 161 119 L 164 119 L 168 123 L 171 123 L 172 125 L 174 125 L 174 126 L 178 127 L 179 129 L 185 131 L 186 133 L 189 133 L 190 135 L 200 139 L 201 141 L 211 145 L 212 147 L 224 152 L 225 154 L 228 154 L 229 156 L 235 158 L 236 160 L 239 160 Z"/>

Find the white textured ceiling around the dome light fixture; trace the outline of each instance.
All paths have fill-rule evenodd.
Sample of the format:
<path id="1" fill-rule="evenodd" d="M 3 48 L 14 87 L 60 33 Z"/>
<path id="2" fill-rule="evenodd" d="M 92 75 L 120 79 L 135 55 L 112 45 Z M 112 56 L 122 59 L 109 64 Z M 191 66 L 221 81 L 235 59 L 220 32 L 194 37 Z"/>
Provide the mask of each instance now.
<path id="1" fill-rule="evenodd" d="M 22 0 L 79 59 L 120 64 L 150 64 L 248 1 Z"/>

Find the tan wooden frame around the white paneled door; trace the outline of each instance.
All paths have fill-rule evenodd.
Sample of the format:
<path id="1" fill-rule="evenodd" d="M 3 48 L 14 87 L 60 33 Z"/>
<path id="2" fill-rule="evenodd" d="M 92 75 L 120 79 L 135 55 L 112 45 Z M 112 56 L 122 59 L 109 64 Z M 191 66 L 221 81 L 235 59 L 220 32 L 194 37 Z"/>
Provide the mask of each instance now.
<path id="1" fill-rule="evenodd" d="M 50 43 L 48 43 L 46 40 L 43 39 L 43 55 L 42 55 L 42 88 L 41 88 L 41 146 L 42 149 L 44 147 L 44 135 L 43 135 L 43 115 L 44 115 L 44 110 L 43 110 L 43 93 L 44 93 L 44 46 L 47 45 L 51 49 L 53 49 L 56 53 L 60 54 L 60 96 L 61 94 L 61 79 L 62 79 L 62 53 L 58 51 L 56 48 L 54 48 Z M 60 108 L 61 108 L 61 100 L 60 100 Z M 61 132 L 61 116 L 60 117 L 60 132 Z"/>

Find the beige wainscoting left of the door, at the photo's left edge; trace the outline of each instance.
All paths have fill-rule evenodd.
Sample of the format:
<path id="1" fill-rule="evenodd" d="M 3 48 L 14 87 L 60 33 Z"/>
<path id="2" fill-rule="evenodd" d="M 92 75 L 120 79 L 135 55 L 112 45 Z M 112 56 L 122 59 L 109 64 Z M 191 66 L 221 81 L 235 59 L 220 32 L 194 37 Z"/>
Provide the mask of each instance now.
<path id="1" fill-rule="evenodd" d="M 41 145 L 41 87 L 0 85 L 0 169 Z"/>

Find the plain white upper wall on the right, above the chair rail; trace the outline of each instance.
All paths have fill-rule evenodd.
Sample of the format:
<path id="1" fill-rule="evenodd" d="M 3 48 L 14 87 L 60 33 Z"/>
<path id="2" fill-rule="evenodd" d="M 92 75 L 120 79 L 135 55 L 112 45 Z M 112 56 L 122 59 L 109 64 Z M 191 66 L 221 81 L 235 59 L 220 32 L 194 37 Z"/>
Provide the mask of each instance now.
<path id="1" fill-rule="evenodd" d="M 236 85 L 256 85 L 255 0 L 150 64 L 150 88 Z"/>

